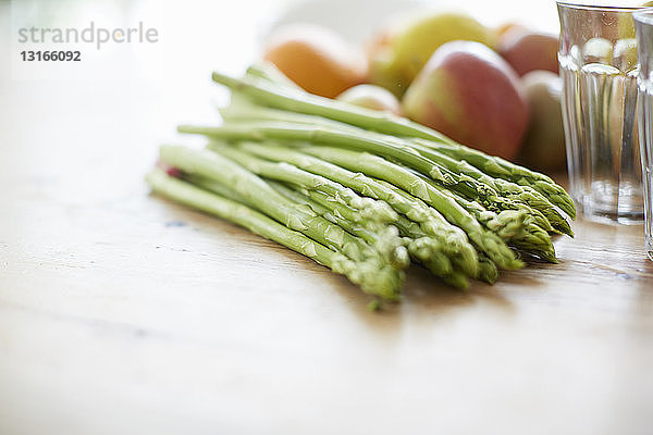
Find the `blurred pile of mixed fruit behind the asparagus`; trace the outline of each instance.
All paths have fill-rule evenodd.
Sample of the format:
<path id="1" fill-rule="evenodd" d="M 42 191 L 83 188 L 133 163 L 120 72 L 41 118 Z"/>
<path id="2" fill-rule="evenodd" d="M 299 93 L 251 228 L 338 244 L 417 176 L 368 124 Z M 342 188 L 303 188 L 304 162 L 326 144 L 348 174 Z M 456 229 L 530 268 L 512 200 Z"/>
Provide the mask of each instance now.
<path id="1" fill-rule="evenodd" d="M 554 35 L 440 10 L 394 20 L 366 50 L 329 28 L 286 25 L 263 58 L 311 94 L 401 114 L 483 152 L 558 172 L 557 48 Z"/>

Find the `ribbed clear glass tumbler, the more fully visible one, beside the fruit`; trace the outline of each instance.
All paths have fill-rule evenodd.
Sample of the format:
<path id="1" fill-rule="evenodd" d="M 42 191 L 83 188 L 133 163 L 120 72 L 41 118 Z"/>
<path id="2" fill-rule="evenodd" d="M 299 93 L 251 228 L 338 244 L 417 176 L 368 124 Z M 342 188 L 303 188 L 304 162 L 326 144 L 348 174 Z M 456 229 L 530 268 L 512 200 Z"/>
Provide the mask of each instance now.
<path id="1" fill-rule="evenodd" d="M 557 2 L 569 190 L 584 219 L 641 223 L 637 44 L 641 8 Z"/>

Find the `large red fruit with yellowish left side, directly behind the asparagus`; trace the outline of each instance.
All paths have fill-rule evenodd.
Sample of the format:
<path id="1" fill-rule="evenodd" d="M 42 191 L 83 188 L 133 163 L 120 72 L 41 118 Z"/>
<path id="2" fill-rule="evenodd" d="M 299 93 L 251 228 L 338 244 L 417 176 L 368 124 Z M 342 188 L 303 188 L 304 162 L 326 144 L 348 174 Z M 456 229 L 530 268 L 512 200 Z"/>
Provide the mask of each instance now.
<path id="1" fill-rule="evenodd" d="M 529 110 L 521 82 L 495 51 L 472 41 L 441 46 L 408 88 L 403 111 L 452 139 L 514 158 Z"/>

